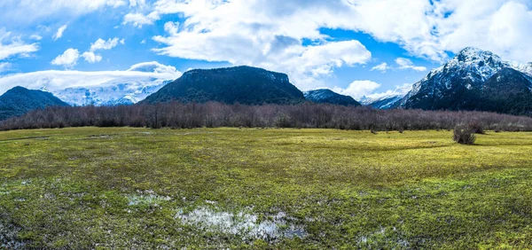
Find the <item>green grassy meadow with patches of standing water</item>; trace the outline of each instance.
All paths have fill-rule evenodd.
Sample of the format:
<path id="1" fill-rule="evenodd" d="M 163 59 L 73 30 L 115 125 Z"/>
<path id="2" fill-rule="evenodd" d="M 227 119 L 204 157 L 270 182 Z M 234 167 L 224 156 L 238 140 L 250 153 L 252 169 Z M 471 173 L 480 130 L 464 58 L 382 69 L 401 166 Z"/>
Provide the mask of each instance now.
<path id="1" fill-rule="evenodd" d="M 532 248 L 532 133 L 0 132 L 0 248 Z"/>

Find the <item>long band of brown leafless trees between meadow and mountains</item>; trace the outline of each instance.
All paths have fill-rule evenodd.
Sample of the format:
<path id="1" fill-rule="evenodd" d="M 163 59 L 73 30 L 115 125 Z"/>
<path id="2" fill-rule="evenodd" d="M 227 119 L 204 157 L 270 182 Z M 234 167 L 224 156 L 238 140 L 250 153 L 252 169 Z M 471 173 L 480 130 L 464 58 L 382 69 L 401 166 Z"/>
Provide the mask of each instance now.
<path id="1" fill-rule="evenodd" d="M 221 103 L 120 105 L 111 107 L 48 107 L 0 121 L 0 129 L 66 127 L 159 128 L 319 128 L 425 130 L 454 129 L 458 124 L 481 124 L 483 129 L 531 131 L 532 118 L 484 112 L 376 110 L 340 105 L 224 105 Z"/>

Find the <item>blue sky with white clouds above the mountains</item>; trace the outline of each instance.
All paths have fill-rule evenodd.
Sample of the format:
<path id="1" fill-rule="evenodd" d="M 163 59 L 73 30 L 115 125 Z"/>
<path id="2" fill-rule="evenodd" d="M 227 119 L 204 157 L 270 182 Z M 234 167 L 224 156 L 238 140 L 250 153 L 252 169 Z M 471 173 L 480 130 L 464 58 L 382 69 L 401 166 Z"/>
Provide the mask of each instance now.
<path id="1" fill-rule="evenodd" d="M 405 93 L 465 47 L 532 61 L 532 0 L 3 0 L 0 12 L 0 82 L 248 65 L 361 99 Z"/>

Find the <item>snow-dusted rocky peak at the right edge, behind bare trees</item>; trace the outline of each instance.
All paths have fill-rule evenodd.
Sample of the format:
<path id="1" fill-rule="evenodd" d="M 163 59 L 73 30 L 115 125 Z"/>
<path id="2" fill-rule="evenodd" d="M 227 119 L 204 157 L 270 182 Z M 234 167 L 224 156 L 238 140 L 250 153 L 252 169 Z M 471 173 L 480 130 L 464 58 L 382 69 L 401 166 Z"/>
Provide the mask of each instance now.
<path id="1" fill-rule="evenodd" d="M 465 48 L 415 83 L 400 105 L 530 115 L 532 76 L 528 68 L 516 68 L 490 51 Z"/>

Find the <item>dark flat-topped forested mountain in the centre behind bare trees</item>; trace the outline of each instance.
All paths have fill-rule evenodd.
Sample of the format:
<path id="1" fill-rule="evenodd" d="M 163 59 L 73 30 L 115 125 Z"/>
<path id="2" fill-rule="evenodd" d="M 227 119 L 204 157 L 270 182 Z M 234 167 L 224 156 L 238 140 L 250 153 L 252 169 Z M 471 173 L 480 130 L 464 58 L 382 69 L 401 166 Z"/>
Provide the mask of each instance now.
<path id="1" fill-rule="evenodd" d="M 243 105 L 298 104 L 305 101 L 301 90 L 286 74 L 251 66 L 194 69 L 149 96 L 143 103 L 168 101 L 217 101 Z"/>

